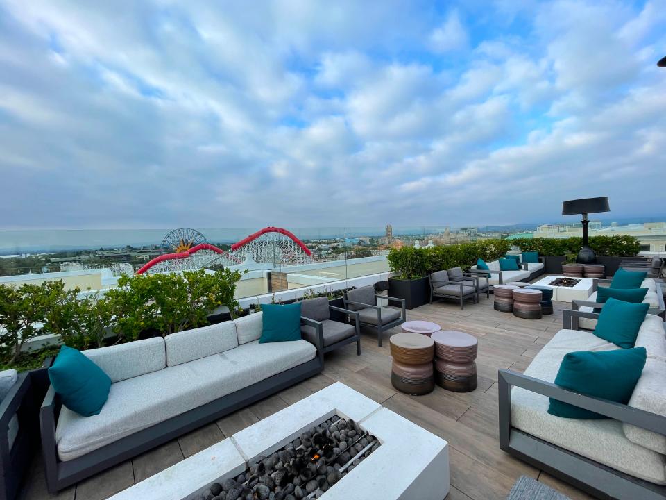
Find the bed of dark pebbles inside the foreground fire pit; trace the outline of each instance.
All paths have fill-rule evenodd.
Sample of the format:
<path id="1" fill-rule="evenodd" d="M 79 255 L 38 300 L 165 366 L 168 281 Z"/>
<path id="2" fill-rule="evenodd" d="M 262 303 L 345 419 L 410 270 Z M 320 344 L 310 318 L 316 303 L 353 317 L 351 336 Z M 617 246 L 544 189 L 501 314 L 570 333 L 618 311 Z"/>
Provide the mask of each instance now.
<path id="1" fill-rule="evenodd" d="M 213 483 L 197 500 L 319 498 L 378 447 L 354 420 L 334 416 L 235 478 Z"/>

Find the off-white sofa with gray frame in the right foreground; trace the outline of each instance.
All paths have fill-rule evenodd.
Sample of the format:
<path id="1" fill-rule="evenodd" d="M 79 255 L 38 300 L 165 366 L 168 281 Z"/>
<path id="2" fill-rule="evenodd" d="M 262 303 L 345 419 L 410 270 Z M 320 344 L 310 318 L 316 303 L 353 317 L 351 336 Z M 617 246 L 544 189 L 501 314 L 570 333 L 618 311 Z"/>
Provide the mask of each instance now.
<path id="1" fill-rule="evenodd" d="M 636 347 L 647 363 L 628 405 L 554 385 L 560 364 L 574 351 L 620 349 L 575 319 L 595 313 L 565 311 L 556 333 L 523 374 L 499 371 L 500 447 L 600 498 L 657 499 L 666 494 L 666 336 L 663 319 L 646 315 Z M 513 386 L 513 387 L 511 387 Z M 549 397 L 612 418 L 550 415 Z"/>

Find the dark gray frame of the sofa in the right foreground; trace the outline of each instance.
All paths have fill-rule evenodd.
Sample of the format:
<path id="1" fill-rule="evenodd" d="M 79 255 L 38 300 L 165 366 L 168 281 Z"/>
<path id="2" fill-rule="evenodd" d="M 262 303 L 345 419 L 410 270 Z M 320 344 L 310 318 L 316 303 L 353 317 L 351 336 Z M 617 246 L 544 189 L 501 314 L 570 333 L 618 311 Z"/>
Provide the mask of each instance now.
<path id="1" fill-rule="evenodd" d="M 575 326 L 579 317 L 597 319 L 599 314 L 565 310 L 563 311 L 563 327 L 577 329 Z M 606 465 L 585 458 L 578 453 L 513 428 L 511 425 L 511 387 L 522 387 L 525 390 L 543 394 L 579 408 L 592 410 L 606 415 L 606 417 L 662 435 L 666 435 L 666 417 L 606 399 L 579 394 L 554 383 L 506 369 L 500 369 L 497 375 L 499 447 L 502 450 L 600 499 L 663 500 L 666 498 L 666 486 L 629 476 L 629 474 L 606 467 Z"/>

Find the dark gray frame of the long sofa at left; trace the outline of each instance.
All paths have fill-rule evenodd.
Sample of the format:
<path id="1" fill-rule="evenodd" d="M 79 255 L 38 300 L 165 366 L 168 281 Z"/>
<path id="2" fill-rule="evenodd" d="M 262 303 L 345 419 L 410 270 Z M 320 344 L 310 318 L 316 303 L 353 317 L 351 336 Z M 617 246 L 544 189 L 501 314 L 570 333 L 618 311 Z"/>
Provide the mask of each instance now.
<path id="1" fill-rule="evenodd" d="M 42 432 L 42 454 L 46 469 L 46 485 L 49 492 L 78 483 L 104 469 L 133 458 L 141 453 L 169 442 L 180 435 L 214 422 L 231 412 L 244 408 L 280 392 L 291 385 L 320 373 L 324 367 L 323 339 L 317 339 L 317 356 L 291 369 L 273 375 L 244 389 L 227 394 L 219 399 L 194 408 L 164 422 L 143 429 L 107 444 L 90 453 L 62 462 L 58 458 L 56 425 L 60 415 L 61 401 L 58 394 L 49 386 L 40 409 L 40 429 Z"/>

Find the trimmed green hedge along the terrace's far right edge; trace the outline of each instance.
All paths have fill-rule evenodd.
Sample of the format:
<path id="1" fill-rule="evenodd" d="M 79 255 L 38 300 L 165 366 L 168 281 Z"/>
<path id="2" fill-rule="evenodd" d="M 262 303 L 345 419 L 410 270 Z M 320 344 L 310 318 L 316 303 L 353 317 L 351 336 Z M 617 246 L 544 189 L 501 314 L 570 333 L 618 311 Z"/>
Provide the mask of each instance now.
<path id="1" fill-rule="evenodd" d="M 391 271 L 401 279 L 418 279 L 428 274 L 450 269 L 475 265 L 478 258 L 490 262 L 503 256 L 511 247 L 520 247 L 522 251 L 538 251 L 540 255 L 563 256 L 566 253 L 578 253 L 583 238 L 518 238 L 516 240 L 479 240 L 476 242 L 443 245 L 439 247 L 419 248 L 402 247 L 391 249 L 388 263 Z M 633 236 L 592 236 L 590 247 L 597 256 L 633 257 L 639 251 L 639 242 Z"/>

